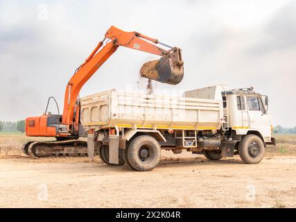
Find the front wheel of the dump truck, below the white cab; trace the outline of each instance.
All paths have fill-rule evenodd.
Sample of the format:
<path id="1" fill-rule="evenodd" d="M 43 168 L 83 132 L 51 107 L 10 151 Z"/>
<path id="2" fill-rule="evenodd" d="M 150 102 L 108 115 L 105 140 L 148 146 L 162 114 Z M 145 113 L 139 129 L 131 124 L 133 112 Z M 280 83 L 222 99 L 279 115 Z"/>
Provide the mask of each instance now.
<path id="1" fill-rule="evenodd" d="M 238 154 L 246 164 L 259 163 L 264 155 L 262 139 L 256 135 L 246 135 L 238 144 Z"/>

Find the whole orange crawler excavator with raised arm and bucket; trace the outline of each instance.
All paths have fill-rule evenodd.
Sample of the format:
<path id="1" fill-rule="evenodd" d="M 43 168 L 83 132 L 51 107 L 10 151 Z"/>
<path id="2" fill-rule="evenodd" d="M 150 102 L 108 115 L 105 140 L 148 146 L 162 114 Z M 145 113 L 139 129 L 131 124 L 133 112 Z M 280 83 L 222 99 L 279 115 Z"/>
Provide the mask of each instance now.
<path id="1" fill-rule="evenodd" d="M 104 45 L 105 44 L 105 45 Z M 156 46 L 161 44 L 168 50 Z M 64 110 L 62 115 L 47 113 L 41 117 L 26 119 L 26 135 L 28 137 L 55 137 L 54 141 L 31 141 L 24 144 L 23 151 L 31 157 L 49 155 L 86 155 L 87 142 L 79 137 L 87 136 L 87 132 L 80 124 L 80 103 L 78 94 L 89 78 L 112 56 L 119 48 L 125 46 L 130 49 L 152 53 L 161 56 L 159 60 L 146 62 L 141 67 L 141 76 L 161 83 L 176 85 L 184 76 L 181 49 L 171 47 L 151 37 L 137 32 L 125 32 L 111 26 L 105 33 L 104 39 L 92 51 L 85 62 L 76 69 L 69 80 L 64 94 Z M 58 103 L 55 101 L 57 107 Z"/>

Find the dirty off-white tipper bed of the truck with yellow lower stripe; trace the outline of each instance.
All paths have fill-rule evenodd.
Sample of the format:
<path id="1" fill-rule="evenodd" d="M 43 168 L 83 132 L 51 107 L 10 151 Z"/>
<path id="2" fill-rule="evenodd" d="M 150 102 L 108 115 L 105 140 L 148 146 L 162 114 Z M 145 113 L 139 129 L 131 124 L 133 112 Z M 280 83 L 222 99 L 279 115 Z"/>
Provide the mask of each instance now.
<path id="1" fill-rule="evenodd" d="M 223 103 L 198 99 L 110 89 L 80 99 L 82 126 L 102 128 L 157 128 L 175 130 L 220 129 Z"/>

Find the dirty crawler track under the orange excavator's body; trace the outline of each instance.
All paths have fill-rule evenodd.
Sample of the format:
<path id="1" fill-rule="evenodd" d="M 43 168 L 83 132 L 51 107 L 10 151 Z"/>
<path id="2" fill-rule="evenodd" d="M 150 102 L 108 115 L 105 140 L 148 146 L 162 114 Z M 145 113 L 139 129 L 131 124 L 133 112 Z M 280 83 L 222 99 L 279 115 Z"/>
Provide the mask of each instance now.
<path id="1" fill-rule="evenodd" d="M 87 142 L 77 139 L 28 142 L 24 144 L 23 151 L 26 155 L 35 159 L 49 156 L 75 157 L 78 155 L 87 155 Z"/>

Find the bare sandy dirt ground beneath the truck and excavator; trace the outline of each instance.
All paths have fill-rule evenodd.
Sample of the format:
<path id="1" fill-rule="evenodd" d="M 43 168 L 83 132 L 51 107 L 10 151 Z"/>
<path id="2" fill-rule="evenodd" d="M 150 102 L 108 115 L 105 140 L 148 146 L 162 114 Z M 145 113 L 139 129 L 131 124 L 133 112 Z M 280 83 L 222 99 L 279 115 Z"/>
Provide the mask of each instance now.
<path id="1" fill-rule="evenodd" d="M 294 137 L 268 146 L 260 164 L 162 151 L 150 172 L 98 157 L 32 160 L 12 148 L 24 140 L 0 135 L 0 207 L 296 207 Z"/>

